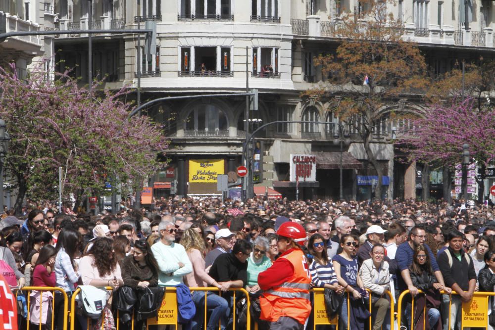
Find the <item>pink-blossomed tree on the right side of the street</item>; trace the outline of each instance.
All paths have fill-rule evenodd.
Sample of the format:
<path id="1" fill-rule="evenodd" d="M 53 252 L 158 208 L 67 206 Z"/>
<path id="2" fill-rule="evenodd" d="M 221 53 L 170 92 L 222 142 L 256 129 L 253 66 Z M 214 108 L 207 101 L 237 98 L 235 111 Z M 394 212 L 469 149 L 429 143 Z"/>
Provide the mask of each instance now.
<path id="1" fill-rule="evenodd" d="M 413 129 L 399 132 L 403 135 L 399 143 L 410 160 L 451 169 L 462 162 L 462 145 L 468 143 L 471 157 L 486 168 L 495 158 L 495 111 L 478 104 L 478 99 L 466 98 L 432 105 L 422 117 L 412 119 Z M 444 185 L 449 180 L 444 175 Z"/>

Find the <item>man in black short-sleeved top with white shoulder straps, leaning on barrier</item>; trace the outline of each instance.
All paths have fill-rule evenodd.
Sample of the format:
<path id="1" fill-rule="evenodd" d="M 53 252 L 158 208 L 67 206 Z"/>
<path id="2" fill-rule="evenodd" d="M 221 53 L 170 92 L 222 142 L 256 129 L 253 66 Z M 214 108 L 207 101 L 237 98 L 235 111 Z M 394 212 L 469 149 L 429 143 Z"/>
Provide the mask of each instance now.
<path id="1" fill-rule="evenodd" d="M 445 279 L 445 284 L 457 294 L 442 296 L 442 323 L 448 328 L 450 310 L 450 330 L 460 329 L 461 302 L 471 301 L 476 289 L 476 272 L 471 256 L 462 248 L 463 234 L 450 231 L 447 236 L 448 248 L 438 255 L 438 265 Z"/>

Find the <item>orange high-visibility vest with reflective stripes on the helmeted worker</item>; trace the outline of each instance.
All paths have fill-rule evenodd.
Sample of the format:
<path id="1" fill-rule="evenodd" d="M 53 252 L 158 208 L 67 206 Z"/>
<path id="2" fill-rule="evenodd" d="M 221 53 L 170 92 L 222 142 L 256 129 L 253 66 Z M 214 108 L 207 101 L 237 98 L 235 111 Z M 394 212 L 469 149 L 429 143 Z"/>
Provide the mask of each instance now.
<path id="1" fill-rule="evenodd" d="M 286 258 L 291 262 L 294 266 L 294 275 L 286 283 L 265 291 L 259 297 L 260 319 L 276 322 L 280 317 L 287 316 L 304 324 L 311 313 L 309 265 L 304 253 L 299 249 L 280 258 Z"/>

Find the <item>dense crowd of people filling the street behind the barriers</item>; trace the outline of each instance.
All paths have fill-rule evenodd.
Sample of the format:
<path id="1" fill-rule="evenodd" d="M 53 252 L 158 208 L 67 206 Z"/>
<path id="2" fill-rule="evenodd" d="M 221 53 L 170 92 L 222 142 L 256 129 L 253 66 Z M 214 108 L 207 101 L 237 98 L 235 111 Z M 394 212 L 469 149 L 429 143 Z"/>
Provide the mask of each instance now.
<path id="1" fill-rule="evenodd" d="M 78 286 L 138 291 L 175 286 L 178 297 L 189 297 L 195 306 L 183 320 L 184 329 L 212 330 L 219 322 L 221 329 L 229 329 L 234 304 L 242 311 L 234 301 L 235 288 L 246 289 L 260 306 L 261 313 L 252 316 L 260 329 L 289 329 L 287 320 L 285 328 L 276 328 L 274 315 L 280 311 L 267 302 L 294 287 L 305 288 L 302 273 L 307 271 L 310 287 L 328 289 L 342 299 L 336 311 L 341 329 L 365 329 L 370 317 L 373 330 L 391 329 L 391 303 L 409 290 L 414 310 L 411 298 L 406 299 L 403 326 L 410 329 L 412 322 L 414 329 L 460 330 L 461 303 L 477 290 L 494 291 L 493 212 L 491 206 L 466 206 L 462 200 L 243 203 L 161 198 L 151 209 L 115 215 L 58 213 L 49 204 L 27 206 L 18 217 L 9 211 L 2 216 L 0 255 L 12 270 L 7 280 L 13 287 L 57 286 L 69 299 Z M 293 239 L 291 233 L 298 228 L 302 236 Z M 303 258 L 301 267 L 291 266 L 294 258 Z M 302 274 L 298 281 L 286 272 L 289 268 Z M 216 287 L 222 294 L 190 292 L 191 287 Z M 452 290 L 457 294 L 450 295 Z M 392 293 L 392 302 L 386 291 Z M 32 325 L 52 329 L 53 316 L 53 329 L 64 329 L 61 292 L 32 291 L 28 299 Z M 115 312 L 111 300 L 103 306 L 105 315 Z M 370 300 L 372 315 L 363 308 Z M 290 310 L 295 301 L 284 308 Z M 297 303 L 309 309 L 306 314 L 305 307 L 299 308 L 304 313 L 291 319 L 290 329 L 310 329 L 311 299 Z M 76 326 L 101 329 L 103 322 L 104 329 L 113 327 L 113 320 L 106 318 L 91 324 L 87 320 L 78 316 Z M 127 321 L 122 329 L 130 329 Z M 136 320 L 134 329 L 141 330 L 143 324 Z"/>

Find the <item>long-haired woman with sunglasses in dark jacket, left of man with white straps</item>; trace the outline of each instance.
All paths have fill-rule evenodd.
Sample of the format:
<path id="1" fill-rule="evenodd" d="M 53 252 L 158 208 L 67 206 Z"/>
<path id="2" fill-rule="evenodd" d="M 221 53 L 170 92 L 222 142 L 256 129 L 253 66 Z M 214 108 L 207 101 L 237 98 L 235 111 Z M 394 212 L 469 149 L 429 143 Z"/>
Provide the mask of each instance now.
<path id="1" fill-rule="evenodd" d="M 418 296 L 414 304 L 414 329 L 442 329 L 442 320 L 440 319 L 440 290 L 444 289 L 444 285 L 437 282 L 435 274 L 431 266 L 428 251 L 424 245 L 419 245 L 414 251 L 412 264 L 409 267 L 412 285 L 422 290 L 426 294 L 426 298 Z M 423 299 L 424 301 L 422 301 Z M 423 317 L 424 305 L 426 304 L 426 314 L 428 318 Z M 405 313 L 406 318 L 410 313 Z M 427 324 L 423 325 L 423 319 L 426 319 Z M 410 324 L 410 319 L 408 320 Z"/>

